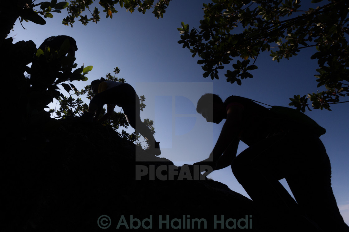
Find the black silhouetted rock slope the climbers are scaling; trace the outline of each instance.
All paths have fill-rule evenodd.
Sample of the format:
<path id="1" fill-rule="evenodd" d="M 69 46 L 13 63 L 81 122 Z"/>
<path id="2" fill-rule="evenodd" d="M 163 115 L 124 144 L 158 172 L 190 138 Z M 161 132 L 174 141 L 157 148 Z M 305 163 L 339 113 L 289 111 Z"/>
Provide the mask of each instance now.
<path id="1" fill-rule="evenodd" d="M 148 231 L 160 230 L 160 215 L 162 220 L 169 215 L 169 222 L 178 218 L 182 223 L 204 218 L 208 229 L 214 228 L 214 215 L 217 220 L 222 215 L 224 220 L 246 216 L 253 220 L 249 218 L 252 201 L 222 183 L 147 180 L 147 176 L 136 181 L 135 165 L 173 163 L 155 156 L 152 161 L 136 161 L 135 154 L 138 160 L 147 156 L 149 160 L 152 155 L 109 127 L 50 119 L 28 131 L 23 141 L 28 143 L 8 147 L 1 160 L 4 231 L 99 231 L 97 219 L 101 215 L 111 219 L 107 230 L 115 230 L 122 216 L 131 226 L 131 215 L 140 222 L 151 215 L 153 228 Z M 173 223 L 179 226 L 178 220 Z M 197 223 L 191 226 L 198 228 Z M 162 223 L 161 230 L 164 228 L 166 223 Z M 125 229 L 120 225 L 121 231 Z M 145 229 L 140 226 L 139 230 Z"/>

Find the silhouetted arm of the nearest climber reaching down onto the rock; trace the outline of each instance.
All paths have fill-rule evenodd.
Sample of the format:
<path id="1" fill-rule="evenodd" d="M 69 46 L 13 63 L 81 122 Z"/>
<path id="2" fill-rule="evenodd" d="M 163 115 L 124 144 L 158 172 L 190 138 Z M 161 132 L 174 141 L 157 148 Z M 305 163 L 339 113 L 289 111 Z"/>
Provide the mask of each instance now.
<path id="1" fill-rule="evenodd" d="M 238 136 L 242 129 L 242 111 L 243 109 L 239 105 L 232 105 L 231 107 L 229 107 L 227 111 L 227 120 L 225 120 L 221 134 L 218 137 L 216 145 L 214 146 L 213 151 L 211 152 L 209 158 L 203 161 L 194 163 L 194 165 L 210 164 L 212 167 L 215 167 L 222 153 L 228 148 L 228 146 L 232 143 L 232 141 L 233 142 L 235 141 L 235 145 L 237 149 L 237 145 L 239 141 Z M 232 149 L 235 149 L 235 147 L 233 146 Z M 233 158 L 231 158 L 231 160 Z M 228 159 L 228 152 L 227 152 L 227 154 L 225 154 L 225 157 L 222 158 L 221 164 L 228 162 L 229 159 Z"/>

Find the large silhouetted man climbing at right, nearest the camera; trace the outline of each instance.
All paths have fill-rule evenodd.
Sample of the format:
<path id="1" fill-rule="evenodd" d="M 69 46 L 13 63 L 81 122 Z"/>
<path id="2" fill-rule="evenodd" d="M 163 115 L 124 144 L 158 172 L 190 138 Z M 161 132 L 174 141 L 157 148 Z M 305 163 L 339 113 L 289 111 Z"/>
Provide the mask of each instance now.
<path id="1" fill-rule="evenodd" d="M 317 226 L 349 231 L 333 195 L 331 165 L 319 135 L 239 96 L 223 102 L 218 95 L 205 94 L 196 111 L 207 122 L 226 121 L 209 158 L 194 165 L 210 164 L 214 170 L 231 165 L 262 225 L 282 221 L 290 224 L 281 223 L 280 231 L 294 230 L 303 220 L 310 225 L 308 231 Z M 240 140 L 249 147 L 236 156 Z M 279 182 L 283 178 L 297 202 Z"/>

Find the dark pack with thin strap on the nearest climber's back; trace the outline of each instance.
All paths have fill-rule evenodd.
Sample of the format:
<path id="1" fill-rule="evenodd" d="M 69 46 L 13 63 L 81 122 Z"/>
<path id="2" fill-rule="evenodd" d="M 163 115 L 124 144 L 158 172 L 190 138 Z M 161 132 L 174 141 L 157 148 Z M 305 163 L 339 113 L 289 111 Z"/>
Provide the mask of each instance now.
<path id="1" fill-rule="evenodd" d="M 251 101 L 257 102 L 252 99 Z M 258 103 L 261 103 L 261 102 L 258 102 Z M 261 103 L 261 104 L 268 105 L 265 103 Z M 273 106 L 268 105 L 268 106 L 271 107 L 268 110 L 270 112 L 273 112 L 276 115 L 276 117 L 294 122 L 298 126 L 300 126 L 302 129 L 310 131 L 317 137 L 320 137 L 321 135 L 326 133 L 325 128 L 321 127 L 317 122 L 315 122 L 309 116 L 307 116 L 306 114 L 296 109 L 285 107 L 285 106 L 276 106 L 276 105 L 273 105 Z"/>

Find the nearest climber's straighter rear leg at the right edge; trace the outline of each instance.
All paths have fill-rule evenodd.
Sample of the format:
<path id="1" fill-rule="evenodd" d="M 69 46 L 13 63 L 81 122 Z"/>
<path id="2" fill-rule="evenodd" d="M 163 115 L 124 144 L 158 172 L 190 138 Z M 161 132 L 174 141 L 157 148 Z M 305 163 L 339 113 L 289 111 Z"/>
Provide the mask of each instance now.
<path id="1" fill-rule="evenodd" d="M 331 164 L 318 138 L 304 147 L 303 170 L 286 177 L 287 183 L 304 214 L 324 231 L 349 231 L 337 207 L 331 187 Z"/>

